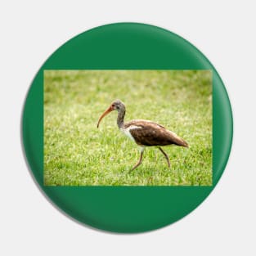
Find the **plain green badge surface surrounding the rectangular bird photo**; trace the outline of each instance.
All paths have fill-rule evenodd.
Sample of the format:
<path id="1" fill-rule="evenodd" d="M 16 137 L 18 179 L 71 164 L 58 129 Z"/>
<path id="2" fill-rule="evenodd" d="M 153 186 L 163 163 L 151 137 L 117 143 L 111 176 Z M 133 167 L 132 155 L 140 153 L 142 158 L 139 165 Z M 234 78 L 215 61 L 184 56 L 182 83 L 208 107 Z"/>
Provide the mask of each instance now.
<path id="1" fill-rule="evenodd" d="M 213 186 L 44 186 L 43 70 L 212 70 Z M 164 227 L 191 213 L 222 175 L 232 127 L 227 92 L 207 58 L 176 34 L 135 23 L 97 27 L 57 49 L 36 74 L 22 118 L 29 167 L 50 200 L 79 222 L 126 233 Z"/>

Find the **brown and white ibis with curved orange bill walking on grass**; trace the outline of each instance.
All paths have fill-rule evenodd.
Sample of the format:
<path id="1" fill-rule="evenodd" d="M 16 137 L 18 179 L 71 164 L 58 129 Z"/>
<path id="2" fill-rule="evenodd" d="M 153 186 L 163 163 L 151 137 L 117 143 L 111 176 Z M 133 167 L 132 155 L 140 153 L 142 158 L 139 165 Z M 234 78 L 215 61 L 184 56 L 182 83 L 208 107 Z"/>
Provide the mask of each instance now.
<path id="1" fill-rule="evenodd" d="M 140 159 L 138 160 L 137 164 L 134 165 L 132 170 L 141 164 L 142 155 L 146 146 L 157 146 L 159 150 L 164 154 L 164 157 L 167 160 L 168 168 L 170 168 L 168 155 L 160 146 L 177 145 L 188 147 L 186 141 L 184 141 L 181 137 L 178 137 L 174 132 L 168 131 L 166 128 L 164 128 L 164 126 L 160 124 L 141 119 L 124 123 L 125 106 L 124 103 L 119 100 L 113 101 L 111 105 L 106 109 L 106 111 L 101 115 L 100 119 L 98 120 L 97 128 L 99 128 L 101 119 L 103 119 L 113 110 L 118 111 L 117 125 L 119 129 L 124 132 L 124 134 L 127 135 L 130 139 L 132 139 L 132 141 L 135 141 L 138 146 L 141 147 Z"/>

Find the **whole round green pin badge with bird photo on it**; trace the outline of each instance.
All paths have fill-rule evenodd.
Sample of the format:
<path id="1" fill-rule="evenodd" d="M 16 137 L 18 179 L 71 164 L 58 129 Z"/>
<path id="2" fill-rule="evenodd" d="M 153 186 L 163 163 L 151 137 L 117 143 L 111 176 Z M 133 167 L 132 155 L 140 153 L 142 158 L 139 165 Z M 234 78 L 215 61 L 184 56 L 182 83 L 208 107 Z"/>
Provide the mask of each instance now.
<path id="1" fill-rule="evenodd" d="M 151 231 L 213 191 L 232 141 L 217 71 L 152 25 L 88 30 L 50 56 L 25 100 L 22 137 L 38 186 L 61 211 L 105 231 Z"/>

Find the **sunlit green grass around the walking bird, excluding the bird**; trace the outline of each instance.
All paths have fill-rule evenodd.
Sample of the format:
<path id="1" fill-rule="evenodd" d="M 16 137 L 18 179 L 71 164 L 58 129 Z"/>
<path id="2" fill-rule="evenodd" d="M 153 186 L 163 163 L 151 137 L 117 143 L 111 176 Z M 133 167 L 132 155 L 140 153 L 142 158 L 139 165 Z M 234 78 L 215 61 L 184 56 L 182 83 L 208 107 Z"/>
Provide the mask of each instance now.
<path id="1" fill-rule="evenodd" d="M 125 119 L 150 119 L 190 147 L 137 145 L 119 132 L 117 113 L 97 120 L 111 101 Z M 209 70 L 46 70 L 44 184 L 47 186 L 212 185 L 212 74 Z"/>

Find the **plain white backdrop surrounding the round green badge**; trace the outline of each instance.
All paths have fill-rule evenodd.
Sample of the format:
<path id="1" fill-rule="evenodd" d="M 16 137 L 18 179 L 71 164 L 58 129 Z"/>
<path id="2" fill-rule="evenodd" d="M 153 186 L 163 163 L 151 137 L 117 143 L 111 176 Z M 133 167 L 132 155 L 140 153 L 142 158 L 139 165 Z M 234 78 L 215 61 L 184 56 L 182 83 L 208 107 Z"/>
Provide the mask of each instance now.
<path id="1" fill-rule="evenodd" d="M 198 47 L 231 99 L 231 157 L 209 198 L 158 231 L 118 235 L 66 218 L 38 190 L 20 146 L 29 85 L 68 39 L 119 21 L 158 25 Z M 1 255 L 256 255 L 254 1 L 1 1 Z"/>

